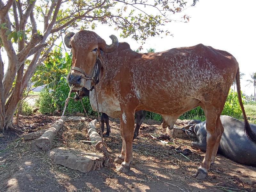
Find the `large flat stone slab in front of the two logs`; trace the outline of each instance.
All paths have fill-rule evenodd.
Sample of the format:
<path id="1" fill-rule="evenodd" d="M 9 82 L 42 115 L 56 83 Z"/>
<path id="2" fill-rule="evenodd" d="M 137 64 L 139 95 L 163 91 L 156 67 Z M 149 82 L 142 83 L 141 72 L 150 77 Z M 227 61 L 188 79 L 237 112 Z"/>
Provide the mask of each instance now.
<path id="1" fill-rule="evenodd" d="M 84 153 L 73 148 L 54 148 L 47 152 L 54 163 L 80 172 L 100 170 L 103 157 L 92 153 Z"/>

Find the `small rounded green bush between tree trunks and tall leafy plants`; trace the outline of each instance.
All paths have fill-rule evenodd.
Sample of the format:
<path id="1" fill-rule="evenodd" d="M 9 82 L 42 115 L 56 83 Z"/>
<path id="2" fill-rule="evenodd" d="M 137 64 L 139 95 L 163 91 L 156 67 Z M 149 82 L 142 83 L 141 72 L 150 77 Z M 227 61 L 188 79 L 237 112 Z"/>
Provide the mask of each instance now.
<path id="1" fill-rule="evenodd" d="M 52 92 L 49 92 L 49 89 L 44 88 L 40 91 L 36 106 L 39 107 L 39 111 L 43 114 L 53 113 L 56 110 L 53 104 Z"/>

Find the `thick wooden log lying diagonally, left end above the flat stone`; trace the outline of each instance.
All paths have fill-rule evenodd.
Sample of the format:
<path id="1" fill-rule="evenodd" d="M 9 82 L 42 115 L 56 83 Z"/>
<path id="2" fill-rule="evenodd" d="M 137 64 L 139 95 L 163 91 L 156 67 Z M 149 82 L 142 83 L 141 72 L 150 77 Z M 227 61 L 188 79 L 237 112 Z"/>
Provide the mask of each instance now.
<path id="1" fill-rule="evenodd" d="M 52 141 L 57 134 L 57 132 L 60 130 L 60 128 L 63 127 L 64 120 L 59 119 L 54 124 L 52 124 L 52 127 L 46 129 L 44 134 L 39 137 L 34 143 L 31 143 L 31 150 L 32 151 L 49 151 L 52 147 Z"/>

